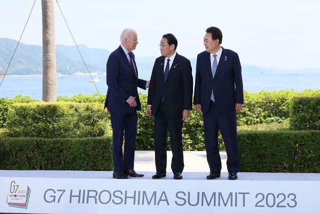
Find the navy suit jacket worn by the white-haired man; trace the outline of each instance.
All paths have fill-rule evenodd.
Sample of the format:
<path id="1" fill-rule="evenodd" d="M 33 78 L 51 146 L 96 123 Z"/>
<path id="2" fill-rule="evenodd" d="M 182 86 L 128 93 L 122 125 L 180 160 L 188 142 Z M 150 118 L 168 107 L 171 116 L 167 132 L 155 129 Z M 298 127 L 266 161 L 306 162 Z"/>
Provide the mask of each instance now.
<path id="1" fill-rule="evenodd" d="M 130 62 L 121 46 L 111 52 L 106 62 L 106 84 L 108 85 L 108 90 L 104 107 L 107 107 L 110 112 L 130 113 L 141 109 L 137 87 L 146 89 L 146 81 L 138 78 L 134 54 L 132 53 L 132 55 L 136 75 L 132 71 Z M 135 97 L 136 107 L 130 107 L 126 102 L 129 96 Z"/>

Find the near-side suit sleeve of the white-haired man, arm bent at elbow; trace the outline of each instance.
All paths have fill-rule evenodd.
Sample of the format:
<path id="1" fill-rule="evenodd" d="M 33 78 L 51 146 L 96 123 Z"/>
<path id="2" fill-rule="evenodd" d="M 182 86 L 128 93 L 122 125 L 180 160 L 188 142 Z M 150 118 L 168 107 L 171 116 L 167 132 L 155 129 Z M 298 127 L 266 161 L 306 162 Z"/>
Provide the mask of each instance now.
<path id="1" fill-rule="evenodd" d="M 106 84 L 119 100 L 126 102 L 130 95 L 118 84 L 119 68 L 118 59 L 111 54 L 106 62 Z"/>

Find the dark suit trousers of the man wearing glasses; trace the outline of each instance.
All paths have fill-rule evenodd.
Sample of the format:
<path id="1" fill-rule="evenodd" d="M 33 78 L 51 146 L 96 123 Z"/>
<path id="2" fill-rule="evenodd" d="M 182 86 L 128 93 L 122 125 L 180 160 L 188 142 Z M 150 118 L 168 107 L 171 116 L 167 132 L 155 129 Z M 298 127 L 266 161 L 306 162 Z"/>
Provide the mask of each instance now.
<path id="1" fill-rule="evenodd" d="M 166 138 L 169 130 L 172 149 L 171 169 L 172 172 L 182 172 L 182 112 L 174 118 L 165 115 L 164 104 L 160 103 L 154 114 L 154 153 L 155 168 L 157 172 L 166 172 Z"/>

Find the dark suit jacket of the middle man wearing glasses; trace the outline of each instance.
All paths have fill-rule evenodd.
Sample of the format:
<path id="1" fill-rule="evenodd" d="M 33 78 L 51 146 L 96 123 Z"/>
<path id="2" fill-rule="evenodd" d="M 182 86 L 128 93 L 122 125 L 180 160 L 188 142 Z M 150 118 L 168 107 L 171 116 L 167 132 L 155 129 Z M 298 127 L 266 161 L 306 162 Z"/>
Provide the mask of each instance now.
<path id="1" fill-rule="evenodd" d="M 154 115 L 164 96 L 164 109 L 168 117 L 182 117 L 183 109 L 192 109 L 192 68 L 189 59 L 176 53 L 165 82 L 163 82 L 164 56 L 155 59 L 147 104 Z"/>

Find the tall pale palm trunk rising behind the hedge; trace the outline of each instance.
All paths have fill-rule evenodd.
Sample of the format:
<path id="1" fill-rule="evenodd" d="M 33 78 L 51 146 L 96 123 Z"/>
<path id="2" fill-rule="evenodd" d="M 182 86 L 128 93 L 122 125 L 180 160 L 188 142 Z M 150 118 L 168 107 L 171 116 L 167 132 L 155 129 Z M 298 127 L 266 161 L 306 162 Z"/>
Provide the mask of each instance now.
<path id="1" fill-rule="evenodd" d="M 42 0 L 42 100 L 56 102 L 53 0 Z"/>

